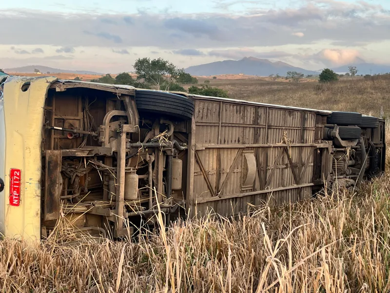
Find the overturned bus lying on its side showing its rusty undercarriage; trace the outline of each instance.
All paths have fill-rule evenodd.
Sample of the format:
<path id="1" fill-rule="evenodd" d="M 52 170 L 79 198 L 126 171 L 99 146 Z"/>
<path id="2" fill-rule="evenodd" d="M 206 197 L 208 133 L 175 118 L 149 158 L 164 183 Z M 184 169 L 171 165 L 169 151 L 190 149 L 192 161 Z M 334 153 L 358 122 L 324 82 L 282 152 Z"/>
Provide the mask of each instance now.
<path id="1" fill-rule="evenodd" d="M 0 77 L 0 231 L 122 237 L 157 208 L 223 216 L 385 168 L 385 122 L 127 85 Z M 158 207 L 157 207 L 158 204 Z"/>

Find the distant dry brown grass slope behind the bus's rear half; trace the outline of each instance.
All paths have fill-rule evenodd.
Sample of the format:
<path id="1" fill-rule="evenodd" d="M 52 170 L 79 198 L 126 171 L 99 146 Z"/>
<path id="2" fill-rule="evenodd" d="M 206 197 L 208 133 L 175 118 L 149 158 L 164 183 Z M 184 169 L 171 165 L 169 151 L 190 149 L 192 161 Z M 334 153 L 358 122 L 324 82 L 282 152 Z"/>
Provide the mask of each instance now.
<path id="1" fill-rule="evenodd" d="M 334 84 L 217 79 L 211 80 L 210 84 L 228 90 L 233 99 L 371 115 L 379 115 L 383 106 L 384 112 L 390 113 L 390 79 L 356 78 Z"/>

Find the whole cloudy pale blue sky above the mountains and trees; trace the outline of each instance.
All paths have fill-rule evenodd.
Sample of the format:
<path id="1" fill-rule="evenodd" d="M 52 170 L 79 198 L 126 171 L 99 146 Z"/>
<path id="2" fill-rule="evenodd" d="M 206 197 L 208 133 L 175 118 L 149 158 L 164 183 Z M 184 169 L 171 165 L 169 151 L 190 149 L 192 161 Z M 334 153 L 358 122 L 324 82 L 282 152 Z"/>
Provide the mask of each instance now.
<path id="1" fill-rule="evenodd" d="M 12 0 L 0 28 L 0 68 L 118 73 L 143 57 L 183 68 L 244 57 L 309 70 L 390 64 L 390 0 Z"/>

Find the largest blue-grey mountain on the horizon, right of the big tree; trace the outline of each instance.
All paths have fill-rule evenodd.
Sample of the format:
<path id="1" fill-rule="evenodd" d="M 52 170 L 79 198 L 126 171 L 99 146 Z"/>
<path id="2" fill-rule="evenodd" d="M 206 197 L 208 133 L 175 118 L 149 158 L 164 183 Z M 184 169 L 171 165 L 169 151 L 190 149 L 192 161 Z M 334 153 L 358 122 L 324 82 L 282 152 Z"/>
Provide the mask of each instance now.
<path id="1" fill-rule="evenodd" d="M 297 71 L 303 74 L 313 74 L 314 71 L 294 67 L 290 64 L 277 61 L 271 62 L 267 59 L 245 57 L 241 60 L 225 60 L 213 63 L 190 66 L 185 69 L 187 73 L 197 76 L 209 76 L 220 74 L 246 74 L 269 76 L 270 74 L 286 75 L 287 71 Z"/>

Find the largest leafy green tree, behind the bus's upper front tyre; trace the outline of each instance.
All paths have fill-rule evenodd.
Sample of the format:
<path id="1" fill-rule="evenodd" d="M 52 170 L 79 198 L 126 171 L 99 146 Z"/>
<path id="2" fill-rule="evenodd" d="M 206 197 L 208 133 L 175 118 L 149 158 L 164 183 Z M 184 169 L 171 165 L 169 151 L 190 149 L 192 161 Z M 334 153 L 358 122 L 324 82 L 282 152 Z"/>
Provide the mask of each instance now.
<path id="1" fill-rule="evenodd" d="M 177 69 L 173 63 L 162 58 L 150 60 L 150 58 L 140 58 L 134 63 L 137 73 L 137 81 L 143 80 L 152 84 L 157 90 L 161 87 L 176 83 L 176 80 L 183 74 L 183 69 Z"/>

